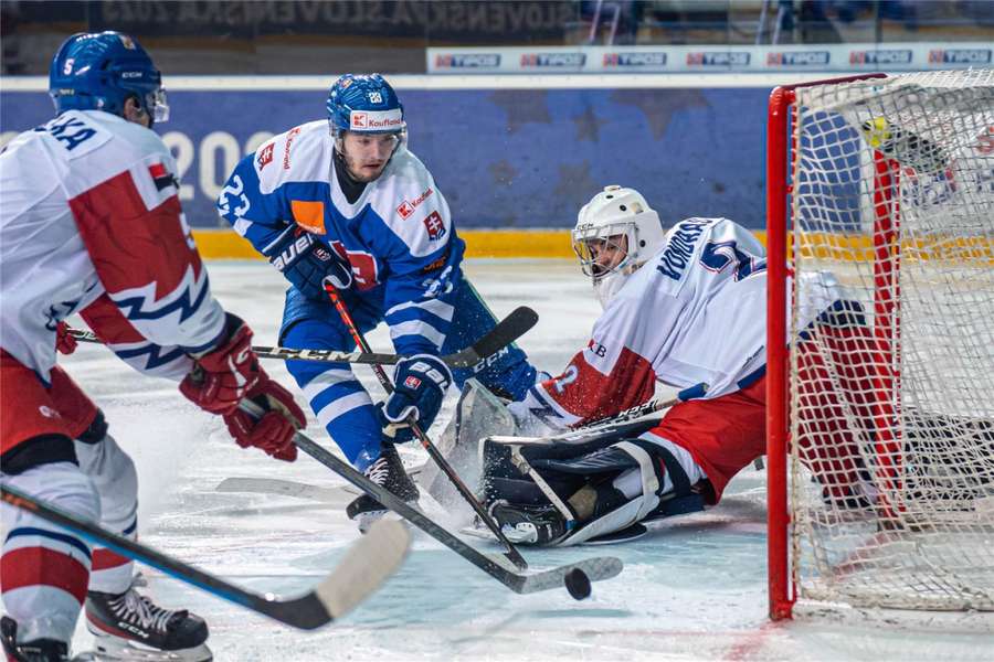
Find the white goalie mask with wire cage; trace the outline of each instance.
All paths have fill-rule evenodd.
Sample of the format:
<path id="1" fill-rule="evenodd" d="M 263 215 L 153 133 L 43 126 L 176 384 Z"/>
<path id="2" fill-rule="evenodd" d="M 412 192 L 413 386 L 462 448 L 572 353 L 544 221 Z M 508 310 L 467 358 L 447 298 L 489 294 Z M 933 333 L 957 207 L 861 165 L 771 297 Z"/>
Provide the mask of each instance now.
<path id="1" fill-rule="evenodd" d="M 635 189 L 617 185 L 583 205 L 573 228 L 573 252 L 583 274 L 593 279 L 602 308 L 663 244 L 659 215 Z"/>

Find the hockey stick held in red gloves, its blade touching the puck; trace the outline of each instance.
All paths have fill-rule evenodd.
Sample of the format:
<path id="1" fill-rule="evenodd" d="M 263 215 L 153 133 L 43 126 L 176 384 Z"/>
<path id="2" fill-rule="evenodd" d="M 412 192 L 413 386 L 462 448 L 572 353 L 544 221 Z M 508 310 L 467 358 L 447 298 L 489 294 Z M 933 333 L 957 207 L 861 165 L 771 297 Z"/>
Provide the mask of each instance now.
<path id="1" fill-rule="evenodd" d="M 239 407 L 241 407 L 243 412 L 255 417 L 264 414 L 258 405 L 248 399 L 243 399 Z M 514 567 L 505 565 L 507 563 L 505 557 L 491 557 L 483 554 L 475 547 L 467 545 L 457 536 L 450 533 L 448 530 L 436 524 L 427 515 L 414 506 L 409 505 L 403 499 L 394 495 L 385 488 L 372 482 L 362 476 L 362 473 L 353 469 L 347 461 L 326 450 L 317 444 L 317 441 L 314 441 L 303 433 L 297 433 L 294 436 L 294 444 L 311 458 L 379 501 L 384 508 L 389 508 L 403 519 L 408 520 L 414 524 L 414 526 L 419 527 L 517 594 L 532 594 L 559 588 L 565 585 L 569 575 L 578 570 L 590 581 L 611 579 L 612 577 L 617 576 L 624 567 L 618 558 L 613 556 L 600 556 L 533 574 L 519 573 Z"/>

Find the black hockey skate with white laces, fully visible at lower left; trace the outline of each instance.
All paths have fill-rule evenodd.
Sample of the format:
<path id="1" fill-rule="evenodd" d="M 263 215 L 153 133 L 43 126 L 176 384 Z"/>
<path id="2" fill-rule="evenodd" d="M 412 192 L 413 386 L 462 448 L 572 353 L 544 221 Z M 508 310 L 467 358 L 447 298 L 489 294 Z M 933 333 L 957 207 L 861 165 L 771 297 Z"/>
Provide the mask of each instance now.
<path id="1" fill-rule="evenodd" d="M 208 627 L 202 618 L 186 609 L 159 607 L 135 590 L 137 586 L 145 586 L 140 575 L 123 594 L 86 595 L 86 627 L 99 660 L 213 660 L 204 644 Z"/>

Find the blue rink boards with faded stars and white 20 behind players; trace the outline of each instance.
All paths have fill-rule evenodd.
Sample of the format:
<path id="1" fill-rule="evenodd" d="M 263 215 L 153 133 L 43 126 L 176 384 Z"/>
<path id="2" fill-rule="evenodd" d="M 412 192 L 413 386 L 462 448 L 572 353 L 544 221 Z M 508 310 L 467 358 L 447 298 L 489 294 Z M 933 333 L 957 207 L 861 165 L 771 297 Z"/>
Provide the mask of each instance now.
<path id="1" fill-rule="evenodd" d="M 638 189 L 668 222 L 713 215 L 763 226 L 769 87 L 581 85 L 400 90 L 410 149 L 461 226 L 570 227 L 606 184 Z M 177 157 L 191 225 L 219 225 L 214 200 L 240 158 L 325 117 L 325 89 L 278 87 L 170 89 L 172 117 L 156 129 Z M 52 114 L 36 88 L 0 94 L 4 140 Z"/>

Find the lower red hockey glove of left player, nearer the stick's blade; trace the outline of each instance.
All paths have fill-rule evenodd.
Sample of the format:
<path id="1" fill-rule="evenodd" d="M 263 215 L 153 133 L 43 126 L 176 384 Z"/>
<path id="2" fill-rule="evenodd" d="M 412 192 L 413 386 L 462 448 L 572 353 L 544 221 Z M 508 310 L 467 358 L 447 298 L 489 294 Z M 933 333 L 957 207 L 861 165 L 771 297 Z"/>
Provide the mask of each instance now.
<path id="1" fill-rule="evenodd" d="M 228 431 L 242 448 L 262 448 L 277 460 L 297 459 L 294 433 L 307 424 L 304 412 L 289 392 L 271 380 L 262 370 L 261 378 L 246 397 L 266 409 L 262 418 L 254 418 L 241 409 L 224 414 Z"/>

